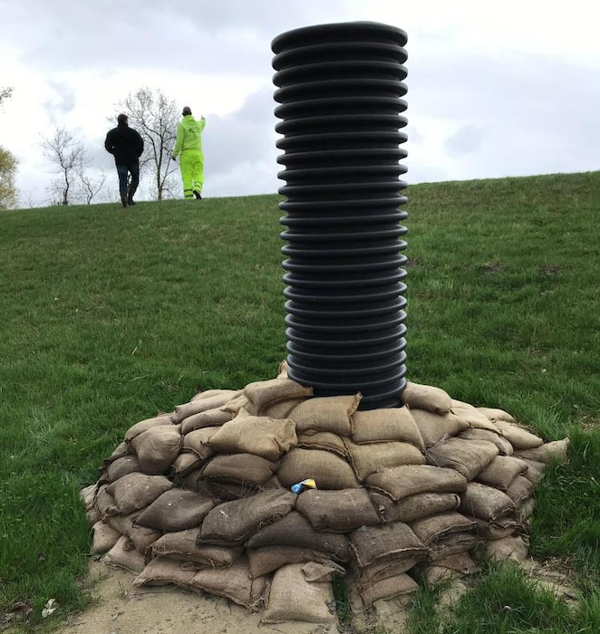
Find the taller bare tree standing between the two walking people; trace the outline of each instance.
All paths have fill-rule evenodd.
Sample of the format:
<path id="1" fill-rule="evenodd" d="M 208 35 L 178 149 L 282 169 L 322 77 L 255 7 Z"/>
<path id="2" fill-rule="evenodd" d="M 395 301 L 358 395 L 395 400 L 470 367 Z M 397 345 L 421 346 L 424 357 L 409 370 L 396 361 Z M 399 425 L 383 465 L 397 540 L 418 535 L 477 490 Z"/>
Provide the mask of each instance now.
<path id="1" fill-rule="evenodd" d="M 140 88 L 131 92 L 121 104 L 131 128 L 144 139 L 140 170 L 150 172 L 158 200 L 171 193 L 169 182 L 177 169 L 170 156 L 175 145 L 179 110 L 160 89 Z"/>

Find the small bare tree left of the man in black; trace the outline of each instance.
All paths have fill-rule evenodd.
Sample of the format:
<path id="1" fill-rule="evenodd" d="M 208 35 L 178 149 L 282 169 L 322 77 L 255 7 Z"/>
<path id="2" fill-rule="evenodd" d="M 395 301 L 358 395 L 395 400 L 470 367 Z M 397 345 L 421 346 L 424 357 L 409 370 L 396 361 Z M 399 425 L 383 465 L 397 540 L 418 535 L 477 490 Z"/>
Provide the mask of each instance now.
<path id="1" fill-rule="evenodd" d="M 85 147 L 75 138 L 73 132 L 65 128 L 55 128 L 53 136 L 42 140 L 44 157 L 48 159 L 60 177 L 54 183 L 57 205 L 70 205 L 78 174 L 81 174 L 88 161 Z"/>

